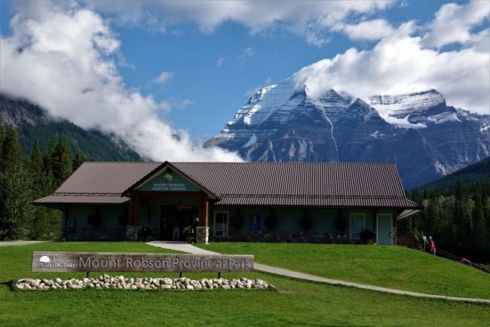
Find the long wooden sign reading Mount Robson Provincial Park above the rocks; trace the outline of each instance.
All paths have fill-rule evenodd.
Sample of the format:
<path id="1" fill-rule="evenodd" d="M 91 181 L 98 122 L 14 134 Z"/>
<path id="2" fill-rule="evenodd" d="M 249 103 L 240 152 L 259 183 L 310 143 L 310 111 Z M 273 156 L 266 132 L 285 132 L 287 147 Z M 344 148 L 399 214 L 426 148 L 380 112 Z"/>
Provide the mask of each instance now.
<path id="1" fill-rule="evenodd" d="M 251 255 L 32 252 L 33 272 L 249 272 Z"/>

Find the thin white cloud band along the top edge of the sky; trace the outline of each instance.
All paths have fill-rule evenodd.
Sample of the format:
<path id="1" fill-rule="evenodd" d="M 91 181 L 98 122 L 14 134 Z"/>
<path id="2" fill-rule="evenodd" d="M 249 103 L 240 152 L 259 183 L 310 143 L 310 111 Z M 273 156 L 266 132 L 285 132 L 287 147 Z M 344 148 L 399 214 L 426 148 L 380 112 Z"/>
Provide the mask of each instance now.
<path id="1" fill-rule="evenodd" d="M 52 0 L 63 4 L 63 0 Z M 123 24 L 157 26 L 168 30 L 182 22 L 197 24 L 203 33 L 212 33 L 222 23 L 234 21 L 252 34 L 274 30 L 277 26 L 302 36 L 309 44 L 328 42 L 331 28 L 360 15 L 380 12 L 395 1 L 175 1 L 175 0 L 79 0 L 97 11 L 115 14 Z"/>

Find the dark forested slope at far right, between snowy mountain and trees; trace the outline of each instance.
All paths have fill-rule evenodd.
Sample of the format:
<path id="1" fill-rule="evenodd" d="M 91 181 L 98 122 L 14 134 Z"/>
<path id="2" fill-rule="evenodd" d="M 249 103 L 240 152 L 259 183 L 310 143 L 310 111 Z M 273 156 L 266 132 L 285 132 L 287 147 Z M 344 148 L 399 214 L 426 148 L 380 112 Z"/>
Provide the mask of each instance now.
<path id="1" fill-rule="evenodd" d="M 476 164 L 470 164 L 468 167 L 465 167 L 459 171 L 454 171 L 452 174 L 449 174 L 442 179 L 438 179 L 421 188 L 453 188 L 458 180 L 462 183 L 462 185 L 470 185 L 476 182 L 490 182 L 490 156 Z"/>

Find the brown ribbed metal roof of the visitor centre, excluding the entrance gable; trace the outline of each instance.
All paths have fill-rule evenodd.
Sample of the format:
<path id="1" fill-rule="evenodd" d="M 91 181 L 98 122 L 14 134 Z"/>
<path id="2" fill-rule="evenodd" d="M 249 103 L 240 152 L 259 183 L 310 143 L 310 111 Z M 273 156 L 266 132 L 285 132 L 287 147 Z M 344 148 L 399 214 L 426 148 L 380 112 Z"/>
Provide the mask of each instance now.
<path id="1" fill-rule="evenodd" d="M 218 195 L 221 198 L 218 205 L 418 207 L 406 199 L 395 164 L 172 165 L 198 185 Z M 135 183 L 152 175 L 160 166 L 162 163 L 85 163 L 56 190 L 52 195 L 56 199 L 52 199 L 63 201 L 62 196 L 68 196 L 67 200 L 75 201 L 70 196 L 91 194 L 91 197 L 104 198 L 100 201 L 109 201 L 115 197 L 113 195 L 122 195 Z M 110 196 L 107 198 L 107 195 Z M 44 199 L 36 203 L 45 203 Z"/>

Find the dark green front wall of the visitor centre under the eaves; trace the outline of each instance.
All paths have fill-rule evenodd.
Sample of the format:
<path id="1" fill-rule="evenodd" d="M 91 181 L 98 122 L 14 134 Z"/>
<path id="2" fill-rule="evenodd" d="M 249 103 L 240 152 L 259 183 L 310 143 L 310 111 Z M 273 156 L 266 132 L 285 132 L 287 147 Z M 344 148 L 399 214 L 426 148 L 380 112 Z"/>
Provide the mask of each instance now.
<path id="1" fill-rule="evenodd" d="M 140 227 L 149 227 L 151 230 L 150 239 L 159 238 L 160 228 L 160 211 L 162 205 L 175 205 L 181 199 L 177 197 L 171 198 L 152 198 L 149 201 L 141 203 Z M 186 205 L 198 205 L 197 199 L 185 199 Z M 68 226 L 65 229 L 67 213 L 64 211 L 62 220 L 62 233 L 67 230 L 67 240 L 125 240 L 125 227 L 127 222 L 128 205 L 72 205 L 68 212 Z M 229 214 L 229 235 L 223 238 L 213 236 L 214 231 L 214 213 L 218 211 L 226 211 Z M 397 212 L 390 209 L 375 209 L 375 208 L 286 208 L 286 207 L 221 207 L 214 206 L 209 215 L 210 238 L 214 241 L 220 240 L 256 240 L 261 241 L 263 235 L 280 235 L 282 238 L 272 239 L 277 242 L 289 242 L 287 235 L 293 235 L 293 239 L 308 242 L 308 238 L 304 238 L 305 234 L 317 237 L 317 242 L 330 243 L 336 242 L 341 237 L 341 242 L 351 243 L 349 235 L 349 217 L 351 214 L 362 213 L 365 217 L 365 229 L 369 229 L 376 233 L 376 215 L 391 214 L 392 215 L 392 231 L 396 230 Z M 100 223 L 90 223 L 89 217 L 97 214 Z M 274 215 L 277 218 L 277 227 L 269 230 L 264 222 L 267 217 Z M 261 226 L 259 230 L 251 231 L 248 226 L 248 219 L 251 215 L 261 217 Z M 311 219 L 312 227 L 309 231 L 301 230 L 301 218 L 308 216 Z M 233 227 L 234 219 L 239 217 L 242 221 L 240 228 Z M 339 231 L 335 227 L 335 219 L 343 217 L 347 221 L 347 229 Z M 386 228 L 385 228 L 386 229 Z M 384 229 L 383 229 L 384 230 Z M 248 239 L 242 236 L 249 237 Z M 295 235 L 295 236 L 294 236 Z M 302 235 L 302 238 L 298 238 Z M 238 237 L 240 236 L 240 237 Z M 332 238 L 332 237 L 335 238 Z M 349 239 L 345 239 L 345 237 Z M 251 238 L 252 237 L 252 238 Z M 253 239 L 256 237 L 256 239 Z M 295 237 L 295 238 L 294 238 Z"/>

